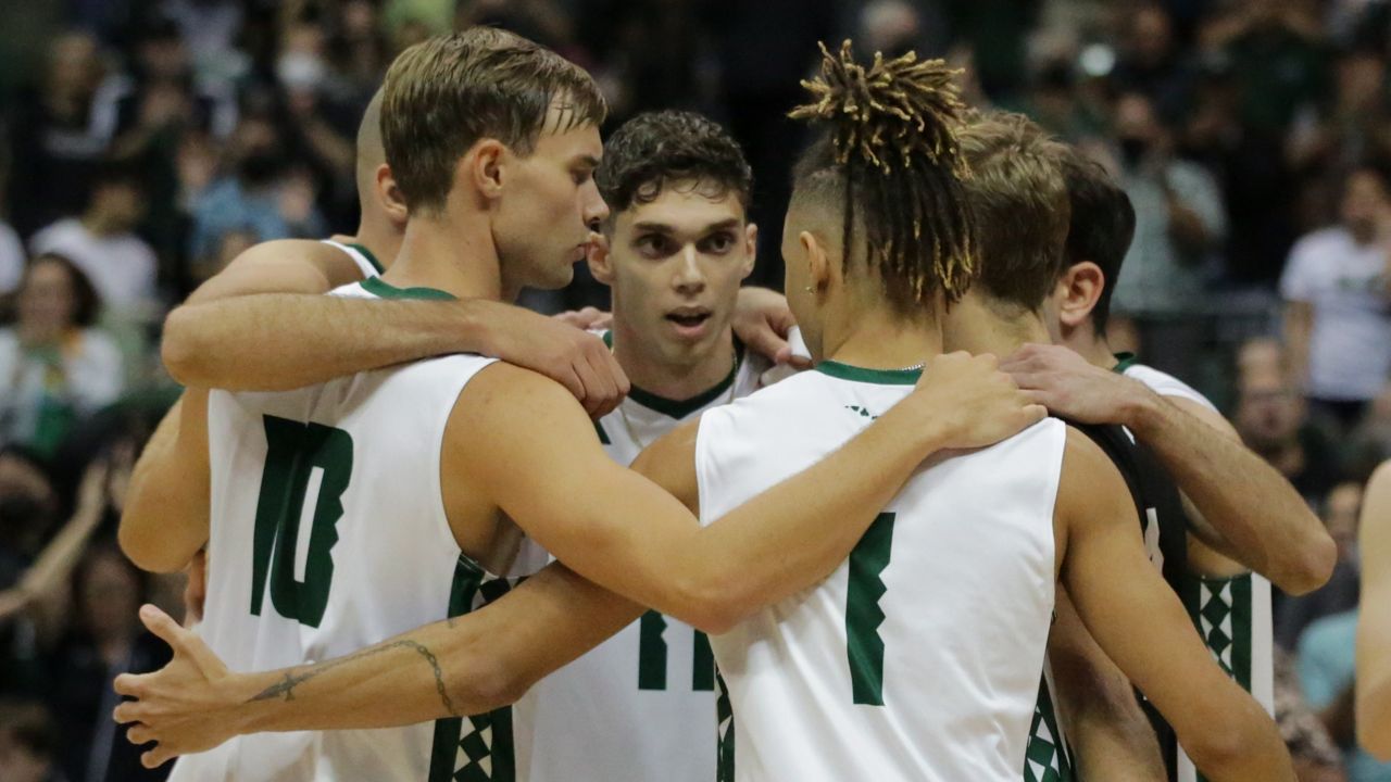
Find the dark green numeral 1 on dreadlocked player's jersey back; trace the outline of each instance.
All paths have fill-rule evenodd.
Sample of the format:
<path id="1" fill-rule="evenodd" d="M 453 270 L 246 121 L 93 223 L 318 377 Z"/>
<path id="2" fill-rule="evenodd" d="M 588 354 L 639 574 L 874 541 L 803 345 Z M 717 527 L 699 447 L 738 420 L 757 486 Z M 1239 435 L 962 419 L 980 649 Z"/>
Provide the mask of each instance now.
<path id="1" fill-rule="evenodd" d="M 846 655 L 850 658 L 850 687 L 854 701 L 883 705 L 883 639 L 879 625 L 883 611 L 883 569 L 893 548 L 893 513 L 879 513 L 850 552 L 850 583 L 846 591 Z"/>

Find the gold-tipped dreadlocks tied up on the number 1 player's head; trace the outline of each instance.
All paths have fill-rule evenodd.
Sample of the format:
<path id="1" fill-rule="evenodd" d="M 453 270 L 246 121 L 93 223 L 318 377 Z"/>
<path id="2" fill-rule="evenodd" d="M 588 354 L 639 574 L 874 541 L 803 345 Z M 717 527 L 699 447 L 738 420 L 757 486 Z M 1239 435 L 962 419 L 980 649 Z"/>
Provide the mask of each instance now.
<path id="1" fill-rule="evenodd" d="M 825 128 L 793 173 L 793 205 L 829 206 L 840 218 L 842 263 L 857 248 L 901 313 L 957 299 L 975 273 L 976 238 L 957 142 L 964 110 L 942 60 L 914 53 L 872 64 L 822 46 L 821 75 L 803 82 L 812 103 L 791 113 Z"/>

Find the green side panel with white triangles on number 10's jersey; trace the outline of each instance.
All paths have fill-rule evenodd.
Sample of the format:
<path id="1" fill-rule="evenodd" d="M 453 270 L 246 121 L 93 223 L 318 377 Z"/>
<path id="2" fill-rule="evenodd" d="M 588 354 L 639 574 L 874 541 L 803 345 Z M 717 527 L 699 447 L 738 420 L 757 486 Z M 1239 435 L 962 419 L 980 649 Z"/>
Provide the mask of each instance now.
<path id="1" fill-rule="evenodd" d="M 449 618 L 498 600 L 513 584 L 460 555 L 449 590 Z M 430 782 L 516 782 L 512 710 L 437 719 L 430 750 Z"/>

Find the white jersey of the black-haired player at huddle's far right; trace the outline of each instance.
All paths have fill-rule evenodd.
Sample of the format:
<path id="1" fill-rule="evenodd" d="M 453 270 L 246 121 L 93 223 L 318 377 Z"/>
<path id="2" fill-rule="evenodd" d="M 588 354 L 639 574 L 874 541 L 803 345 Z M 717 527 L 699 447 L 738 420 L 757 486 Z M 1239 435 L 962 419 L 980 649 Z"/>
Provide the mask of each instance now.
<path id="1" fill-rule="evenodd" d="M 1161 397 L 1189 399 L 1217 410 L 1199 391 L 1155 367 L 1121 358 L 1121 372 L 1150 387 Z M 1274 628 L 1270 609 L 1270 580 L 1260 573 L 1210 579 L 1189 573 L 1182 589 L 1184 604 L 1198 632 L 1223 671 L 1274 715 L 1276 668 Z M 1202 775 L 1188 754 L 1178 749 L 1178 782 L 1198 782 Z"/>

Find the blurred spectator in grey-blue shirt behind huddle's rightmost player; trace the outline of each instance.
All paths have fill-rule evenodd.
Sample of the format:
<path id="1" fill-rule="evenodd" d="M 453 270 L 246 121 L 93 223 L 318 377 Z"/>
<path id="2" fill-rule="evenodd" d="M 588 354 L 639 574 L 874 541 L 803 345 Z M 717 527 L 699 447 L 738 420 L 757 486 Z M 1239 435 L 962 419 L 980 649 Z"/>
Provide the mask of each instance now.
<path id="1" fill-rule="evenodd" d="M 1205 262 L 1227 231 L 1217 182 L 1171 156 L 1168 132 L 1141 93 L 1116 106 L 1120 184 L 1135 206 L 1135 239 L 1116 281 L 1114 308 L 1157 369 L 1192 378 L 1202 351 Z"/>

